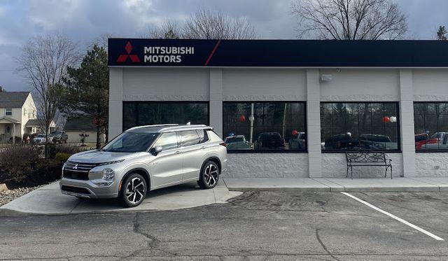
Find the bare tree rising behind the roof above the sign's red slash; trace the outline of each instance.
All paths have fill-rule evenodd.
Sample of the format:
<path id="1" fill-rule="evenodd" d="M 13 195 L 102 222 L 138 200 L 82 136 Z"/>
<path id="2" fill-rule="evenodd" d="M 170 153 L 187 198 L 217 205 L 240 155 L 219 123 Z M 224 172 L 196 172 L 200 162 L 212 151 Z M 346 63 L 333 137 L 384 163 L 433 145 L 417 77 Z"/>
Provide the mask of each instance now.
<path id="1" fill-rule="evenodd" d="M 255 29 L 244 17 L 230 17 L 221 12 L 213 13 L 202 8 L 186 21 L 184 38 L 197 39 L 253 39 Z"/>

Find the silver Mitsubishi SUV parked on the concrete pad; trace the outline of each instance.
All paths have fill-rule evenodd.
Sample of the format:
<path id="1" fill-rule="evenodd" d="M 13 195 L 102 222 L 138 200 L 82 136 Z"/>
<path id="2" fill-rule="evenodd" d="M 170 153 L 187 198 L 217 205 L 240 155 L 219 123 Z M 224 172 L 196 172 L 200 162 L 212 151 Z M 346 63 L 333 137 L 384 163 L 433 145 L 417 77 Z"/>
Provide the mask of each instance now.
<path id="1" fill-rule="evenodd" d="M 76 153 L 62 167 L 62 194 L 120 198 L 138 206 L 146 192 L 197 181 L 214 188 L 227 165 L 223 140 L 206 125 L 151 125 L 123 132 L 101 150 Z"/>

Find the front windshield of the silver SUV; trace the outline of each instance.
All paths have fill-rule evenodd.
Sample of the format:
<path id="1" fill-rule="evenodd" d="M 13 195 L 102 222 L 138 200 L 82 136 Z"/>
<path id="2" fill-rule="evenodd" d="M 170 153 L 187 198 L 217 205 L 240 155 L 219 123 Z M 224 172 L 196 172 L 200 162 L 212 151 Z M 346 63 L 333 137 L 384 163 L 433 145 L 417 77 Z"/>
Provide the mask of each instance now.
<path id="1" fill-rule="evenodd" d="M 146 151 L 158 137 L 158 133 L 123 132 L 116 139 L 102 148 L 111 153 L 137 153 Z"/>

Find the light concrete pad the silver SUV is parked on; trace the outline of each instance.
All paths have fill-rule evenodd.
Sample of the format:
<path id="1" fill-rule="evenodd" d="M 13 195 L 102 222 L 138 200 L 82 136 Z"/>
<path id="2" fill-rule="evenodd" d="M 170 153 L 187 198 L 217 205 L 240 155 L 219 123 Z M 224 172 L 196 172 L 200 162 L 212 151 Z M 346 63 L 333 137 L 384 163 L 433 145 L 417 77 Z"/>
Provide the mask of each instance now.
<path id="1" fill-rule="evenodd" d="M 59 182 L 46 185 L 0 207 L 0 215 L 69 214 L 106 211 L 149 211 L 189 209 L 215 203 L 225 203 L 242 192 L 229 192 L 223 181 L 212 190 L 201 190 L 196 182 L 151 191 L 135 208 L 125 208 L 116 199 L 77 199 L 62 195 Z"/>

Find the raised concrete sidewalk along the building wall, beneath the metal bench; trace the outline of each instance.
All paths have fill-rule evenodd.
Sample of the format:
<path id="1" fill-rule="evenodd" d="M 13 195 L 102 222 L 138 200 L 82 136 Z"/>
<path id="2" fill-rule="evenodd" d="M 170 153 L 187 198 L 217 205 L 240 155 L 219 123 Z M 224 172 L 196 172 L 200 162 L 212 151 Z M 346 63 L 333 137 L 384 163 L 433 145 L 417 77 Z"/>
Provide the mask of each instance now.
<path id="1" fill-rule="evenodd" d="M 448 178 L 223 178 L 229 190 L 428 192 L 447 191 Z"/>

